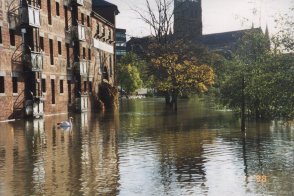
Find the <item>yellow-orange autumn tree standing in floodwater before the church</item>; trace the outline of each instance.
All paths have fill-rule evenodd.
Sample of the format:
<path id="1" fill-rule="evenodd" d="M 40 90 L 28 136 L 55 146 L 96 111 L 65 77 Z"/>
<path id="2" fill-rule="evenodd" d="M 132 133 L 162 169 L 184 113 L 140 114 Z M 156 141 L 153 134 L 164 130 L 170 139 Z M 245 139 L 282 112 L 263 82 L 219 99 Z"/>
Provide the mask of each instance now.
<path id="1" fill-rule="evenodd" d="M 201 64 L 196 57 L 183 59 L 177 53 L 164 53 L 152 58 L 155 86 L 171 95 L 170 104 L 177 111 L 179 94 L 205 92 L 214 83 L 211 67 Z"/>

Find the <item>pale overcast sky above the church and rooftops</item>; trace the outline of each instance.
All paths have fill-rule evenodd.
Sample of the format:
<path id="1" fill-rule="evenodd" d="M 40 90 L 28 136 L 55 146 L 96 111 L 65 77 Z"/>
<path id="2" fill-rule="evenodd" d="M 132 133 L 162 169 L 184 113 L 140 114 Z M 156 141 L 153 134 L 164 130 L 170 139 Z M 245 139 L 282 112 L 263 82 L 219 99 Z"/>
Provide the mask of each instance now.
<path id="1" fill-rule="evenodd" d="M 144 9 L 145 0 L 107 1 L 118 6 L 117 27 L 127 29 L 128 36 L 150 34 L 149 27 L 132 11 L 132 8 Z M 290 7 L 294 7 L 294 0 L 202 0 L 203 34 L 250 28 L 252 23 L 263 29 L 268 24 L 273 34 L 275 17 L 289 13 Z"/>

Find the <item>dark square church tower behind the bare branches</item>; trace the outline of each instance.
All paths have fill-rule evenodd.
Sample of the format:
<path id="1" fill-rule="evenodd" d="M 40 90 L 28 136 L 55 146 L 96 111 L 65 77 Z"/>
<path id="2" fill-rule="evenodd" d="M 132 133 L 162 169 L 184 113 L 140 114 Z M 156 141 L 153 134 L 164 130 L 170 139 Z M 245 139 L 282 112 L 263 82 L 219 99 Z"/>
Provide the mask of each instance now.
<path id="1" fill-rule="evenodd" d="M 202 36 L 201 0 L 174 1 L 174 35 L 189 39 Z"/>

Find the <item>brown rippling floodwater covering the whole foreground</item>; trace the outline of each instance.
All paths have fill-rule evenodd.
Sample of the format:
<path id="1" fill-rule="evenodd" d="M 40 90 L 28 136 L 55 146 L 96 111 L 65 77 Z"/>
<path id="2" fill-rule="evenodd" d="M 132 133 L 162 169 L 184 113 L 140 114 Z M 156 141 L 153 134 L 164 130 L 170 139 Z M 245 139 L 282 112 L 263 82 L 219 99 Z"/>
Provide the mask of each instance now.
<path id="1" fill-rule="evenodd" d="M 0 195 L 294 195 L 294 129 L 162 99 L 120 111 L 0 123 Z"/>

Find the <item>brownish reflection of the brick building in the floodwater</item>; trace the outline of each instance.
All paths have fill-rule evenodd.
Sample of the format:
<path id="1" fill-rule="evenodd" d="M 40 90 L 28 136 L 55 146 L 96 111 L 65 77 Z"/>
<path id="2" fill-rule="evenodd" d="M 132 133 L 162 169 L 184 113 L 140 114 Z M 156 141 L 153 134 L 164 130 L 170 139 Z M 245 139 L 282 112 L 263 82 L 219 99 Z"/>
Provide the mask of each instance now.
<path id="1" fill-rule="evenodd" d="M 116 123 L 78 116 L 71 131 L 56 126 L 65 116 L 0 124 L 0 195 L 117 193 Z"/>

